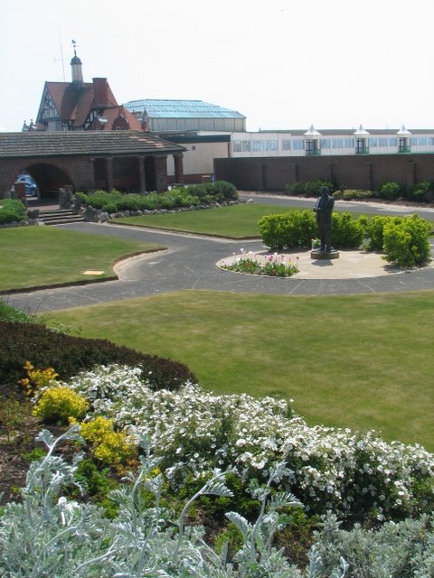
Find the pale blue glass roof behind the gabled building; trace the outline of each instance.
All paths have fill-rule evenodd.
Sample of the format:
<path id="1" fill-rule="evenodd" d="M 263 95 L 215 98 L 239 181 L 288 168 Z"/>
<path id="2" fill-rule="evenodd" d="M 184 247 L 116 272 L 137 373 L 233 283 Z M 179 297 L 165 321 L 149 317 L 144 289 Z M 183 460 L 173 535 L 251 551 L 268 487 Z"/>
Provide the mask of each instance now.
<path id="1" fill-rule="evenodd" d="M 158 100 L 144 98 L 130 100 L 124 107 L 129 112 L 142 113 L 151 118 L 245 118 L 239 112 L 218 107 L 203 100 Z"/>

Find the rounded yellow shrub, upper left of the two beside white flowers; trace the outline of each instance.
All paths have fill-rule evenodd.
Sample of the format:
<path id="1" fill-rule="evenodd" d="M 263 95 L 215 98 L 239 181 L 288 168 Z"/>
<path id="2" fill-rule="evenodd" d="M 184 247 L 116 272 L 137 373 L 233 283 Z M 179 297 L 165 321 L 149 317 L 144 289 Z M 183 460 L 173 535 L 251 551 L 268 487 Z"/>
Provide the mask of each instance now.
<path id="1" fill-rule="evenodd" d="M 44 423 L 68 424 L 70 418 L 80 419 L 89 409 L 88 400 L 71 387 L 56 386 L 42 391 L 36 402 L 33 415 Z"/>

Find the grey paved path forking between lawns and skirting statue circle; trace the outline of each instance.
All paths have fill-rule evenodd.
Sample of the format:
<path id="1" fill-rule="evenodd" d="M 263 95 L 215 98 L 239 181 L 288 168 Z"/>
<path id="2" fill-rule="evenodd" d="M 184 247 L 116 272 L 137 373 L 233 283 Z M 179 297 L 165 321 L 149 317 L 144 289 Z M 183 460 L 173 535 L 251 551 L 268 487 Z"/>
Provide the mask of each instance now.
<path id="1" fill-rule="evenodd" d="M 268 202 L 268 198 L 262 196 L 258 196 L 257 200 Z M 285 205 L 285 201 L 280 198 L 278 204 Z M 414 212 L 408 208 L 403 210 L 404 214 Z M 396 209 L 393 209 L 393 212 L 396 212 Z M 433 213 L 430 214 L 432 218 Z M 8 294 L 3 296 L 7 303 L 23 311 L 41 313 L 185 289 L 289 296 L 405 292 L 434 287 L 432 266 L 381 276 L 370 276 L 371 272 L 360 276 L 363 271 L 359 269 L 354 272 L 354 276 L 358 275 L 357 278 L 307 278 L 297 275 L 290 278 L 270 278 L 241 275 L 219 269 L 216 263 L 224 257 L 240 253 L 241 248 L 253 252 L 263 251 L 260 240 L 233 241 L 96 223 L 72 223 L 62 227 L 97 235 L 116 235 L 119 238 L 147 241 L 167 247 L 167 250 L 135 257 L 118 265 L 117 281 Z M 354 267 L 357 269 L 358 266 Z M 339 277 L 339 274 L 332 276 Z"/>

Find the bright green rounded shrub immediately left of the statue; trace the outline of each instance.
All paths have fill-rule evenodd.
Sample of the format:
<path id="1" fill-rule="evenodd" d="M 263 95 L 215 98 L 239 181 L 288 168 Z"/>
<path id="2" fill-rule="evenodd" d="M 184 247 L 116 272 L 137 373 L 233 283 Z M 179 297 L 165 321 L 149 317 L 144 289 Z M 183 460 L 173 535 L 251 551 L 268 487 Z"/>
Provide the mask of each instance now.
<path id="1" fill-rule="evenodd" d="M 291 210 L 287 213 L 265 215 L 258 221 L 264 245 L 272 250 L 310 247 L 317 235 L 313 210 Z"/>

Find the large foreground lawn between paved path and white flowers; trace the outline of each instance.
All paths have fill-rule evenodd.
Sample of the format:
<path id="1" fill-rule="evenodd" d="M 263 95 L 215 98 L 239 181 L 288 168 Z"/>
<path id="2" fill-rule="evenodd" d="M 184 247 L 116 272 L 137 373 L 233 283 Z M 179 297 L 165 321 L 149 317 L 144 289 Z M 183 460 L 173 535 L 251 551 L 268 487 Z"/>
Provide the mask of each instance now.
<path id="1" fill-rule="evenodd" d="M 217 393 L 294 398 L 309 424 L 375 429 L 434 451 L 432 292 L 180 292 L 46 315 L 182 361 Z M 116 323 L 113 320 L 116 319 Z"/>

